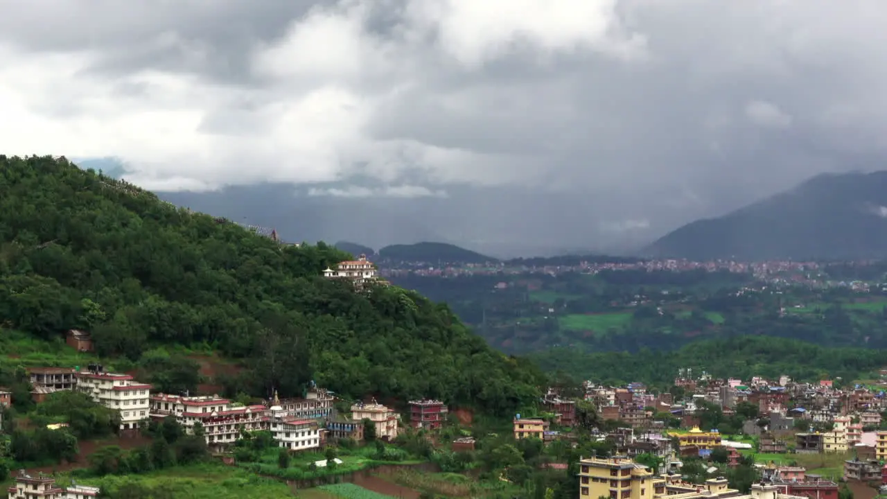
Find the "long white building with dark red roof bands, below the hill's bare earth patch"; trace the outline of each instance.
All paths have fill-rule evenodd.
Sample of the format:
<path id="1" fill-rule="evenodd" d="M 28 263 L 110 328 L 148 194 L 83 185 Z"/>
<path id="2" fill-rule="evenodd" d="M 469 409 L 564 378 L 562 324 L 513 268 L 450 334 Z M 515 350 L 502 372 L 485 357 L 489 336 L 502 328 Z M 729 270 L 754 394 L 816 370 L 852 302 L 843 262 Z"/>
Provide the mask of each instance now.
<path id="1" fill-rule="evenodd" d="M 151 417 L 175 417 L 185 432 L 192 433 L 200 422 L 207 444 L 221 448 L 240 438 L 240 431 L 257 432 L 268 428 L 268 408 L 263 405 L 244 406 L 218 395 L 182 397 L 167 393 L 151 396 Z"/>

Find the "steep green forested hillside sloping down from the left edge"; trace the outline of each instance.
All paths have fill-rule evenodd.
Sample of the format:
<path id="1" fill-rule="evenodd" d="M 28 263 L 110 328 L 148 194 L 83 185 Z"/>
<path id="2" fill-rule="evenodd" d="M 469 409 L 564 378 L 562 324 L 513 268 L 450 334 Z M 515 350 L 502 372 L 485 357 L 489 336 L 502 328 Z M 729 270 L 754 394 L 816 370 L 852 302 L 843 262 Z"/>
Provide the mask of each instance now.
<path id="1" fill-rule="evenodd" d="M 89 329 L 99 354 L 210 345 L 254 394 L 312 377 L 345 396 L 436 397 L 508 413 L 538 371 L 494 352 L 413 291 L 320 277 L 348 258 L 177 209 L 65 158 L 0 155 L 0 321 L 36 337 Z M 255 393 L 258 392 L 258 393 Z"/>

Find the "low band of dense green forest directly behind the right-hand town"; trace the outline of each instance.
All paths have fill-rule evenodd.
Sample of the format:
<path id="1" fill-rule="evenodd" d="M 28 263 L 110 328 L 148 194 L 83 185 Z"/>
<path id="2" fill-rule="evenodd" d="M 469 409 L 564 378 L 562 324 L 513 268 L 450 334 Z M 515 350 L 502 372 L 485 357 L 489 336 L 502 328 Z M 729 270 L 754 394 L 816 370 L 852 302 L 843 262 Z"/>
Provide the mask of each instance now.
<path id="1" fill-rule="evenodd" d="M 887 363 L 887 351 L 868 348 L 826 348 L 779 337 L 746 336 L 697 341 L 679 350 L 588 352 L 553 348 L 530 354 L 550 372 L 564 372 L 597 383 L 635 381 L 661 389 L 671 386 L 679 368 L 693 368 L 715 377 L 791 376 L 798 381 L 840 377 L 844 382 L 870 379 Z"/>

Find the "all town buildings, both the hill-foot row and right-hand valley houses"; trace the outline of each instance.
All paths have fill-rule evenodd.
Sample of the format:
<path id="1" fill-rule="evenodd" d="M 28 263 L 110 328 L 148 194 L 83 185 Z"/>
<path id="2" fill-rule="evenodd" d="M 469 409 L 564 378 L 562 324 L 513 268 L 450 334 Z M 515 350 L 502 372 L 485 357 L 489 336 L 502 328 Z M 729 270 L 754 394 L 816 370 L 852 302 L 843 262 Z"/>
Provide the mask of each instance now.
<path id="1" fill-rule="evenodd" d="M 360 442 L 366 432 L 383 441 L 394 441 L 404 431 L 433 434 L 454 422 L 442 400 L 409 400 L 399 412 L 368 397 L 353 401 L 349 412 L 340 414 L 336 408 L 341 404 L 336 402 L 341 400 L 314 384 L 299 398 L 280 399 L 275 392 L 263 403 L 242 405 L 217 395 L 154 392 L 150 384 L 106 372 L 100 365 L 31 368 L 28 375 L 38 404 L 52 392 L 84 392 L 120 412 L 122 433 L 137 432 L 150 420 L 174 418 L 185 432 L 204 435 L 208 447 L 219 453 L 230 450 L 248 432 L 271 432 L 279 448 L 304 452 L 343 439 Z M 887 369 L 882 376 L 887 378 Z M 549 445 L 570 442 L 577 432 L 588 430 L 594 439 L 608 442 L 612 448 L 608 455 L 581 460 L 580 499 L 673 495 L 837 499 L 840 480 L 887 484 L 887 429 L 882 414 L 887 396 L 878 386 L 838 388 L 836 380 L 797 383 L 789 376 L 715 379 L 704 372 L 693 376 L 690 369 L 680 370 L 671 392 L 650 391 L 640 383 L 614 387 L 585 382 L 578 397 L 549 388 L 539 400 L 537 414 L 515 415 L 514 440 L 537 439 Z M 9 393 L 4 392 L 0 403 L 9 402 Z M 584 428 L 580 421 L 587 407 L 598 422 L 592 428 Z M 729 434 L 725 428 L 706 426 L 714 413 L 739 417 L 741 425 Z M 453 451 L 473 450 L 475 440 L 461 437 L 449 445 Z M 823 476 L 792 463 L 790 457 L 814 454 L 846 456 L 840 476 Z M 754 466 L 761 480 L 750 495 L 742 495 L 727 487 L 719 473 L 749 455 L 785 459 L 758 459 Z M 712 476 L 703 483 L 687 482 L 681 474 L 687 459 L 708 462 L 706 474 Z M 33 487 L 57 494 L 43 495 L 47 497 L 72 496 L 70 490 L 64 495 L 48 477 L 21 471 L 16 480 L 10 497 L 23 496 L 17 491 Z"/>

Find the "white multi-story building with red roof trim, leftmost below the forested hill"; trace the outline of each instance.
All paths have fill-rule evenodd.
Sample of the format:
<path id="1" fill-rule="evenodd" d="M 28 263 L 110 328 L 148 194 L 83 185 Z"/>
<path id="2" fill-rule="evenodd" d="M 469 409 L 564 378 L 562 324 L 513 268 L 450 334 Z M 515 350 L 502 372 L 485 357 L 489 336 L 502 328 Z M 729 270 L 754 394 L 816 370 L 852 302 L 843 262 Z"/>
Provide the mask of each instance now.
<path id="1" fill-rule="evenodd" d="M 130 375 L 88 371 L 77 373 L 75 386 L 106 408 L 119 410 L 121 430 L 136 430 L 148 419 L 150 384 L 134 381 Z"/>

